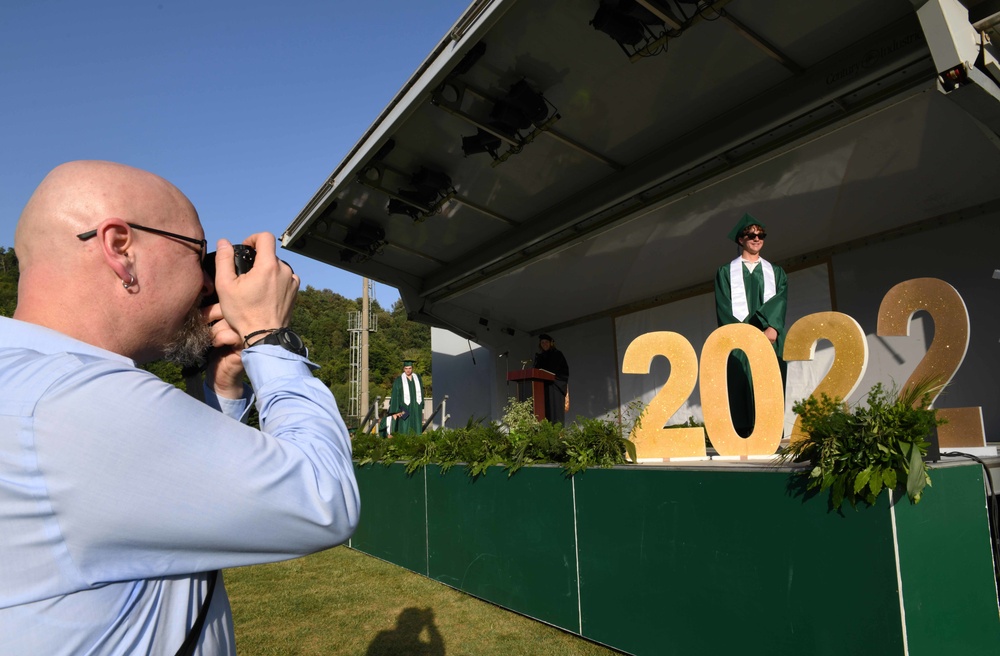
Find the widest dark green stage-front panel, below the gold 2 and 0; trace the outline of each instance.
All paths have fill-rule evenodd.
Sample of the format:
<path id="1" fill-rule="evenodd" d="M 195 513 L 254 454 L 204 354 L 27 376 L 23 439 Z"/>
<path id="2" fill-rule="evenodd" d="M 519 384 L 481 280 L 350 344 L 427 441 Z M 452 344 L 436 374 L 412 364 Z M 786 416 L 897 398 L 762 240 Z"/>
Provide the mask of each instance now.
<path id="1" fill-rule="evenodd" d="M 633 654 L 901 656 L 888 501 L 828 512 L 788 483 L 770 470 L 577 476 L 583 635 Z"/>

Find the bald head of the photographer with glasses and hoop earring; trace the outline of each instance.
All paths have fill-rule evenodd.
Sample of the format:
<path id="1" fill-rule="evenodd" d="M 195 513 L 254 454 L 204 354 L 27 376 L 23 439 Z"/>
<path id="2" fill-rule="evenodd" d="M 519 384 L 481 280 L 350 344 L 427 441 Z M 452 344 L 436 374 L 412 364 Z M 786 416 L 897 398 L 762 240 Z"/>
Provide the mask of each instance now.
<path id="1" fill-rule="evenodd" d="M 136 359 L 161 355 L 207 293 L 203 251 L 133 224 L 203 234 L 191 201 L 157 175 L 101 161 L 53 169 L 15 233 L 14 318 Z"/>

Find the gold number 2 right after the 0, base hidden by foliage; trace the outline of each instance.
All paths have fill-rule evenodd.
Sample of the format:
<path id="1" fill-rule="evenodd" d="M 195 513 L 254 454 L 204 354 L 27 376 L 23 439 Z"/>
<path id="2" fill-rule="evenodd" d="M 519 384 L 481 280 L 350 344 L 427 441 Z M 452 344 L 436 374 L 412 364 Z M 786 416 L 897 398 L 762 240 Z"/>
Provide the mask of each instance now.
<path id="1" fill-rule="evenodd" d="M 833 344 L 834 360 L 830 371 L 813 390 L 812 396 L 826 394 L 845 402 L 861 383 L 868 368 L 868 340 L 861 325 L 841 312 L 817 312 L 802 317 L 788 329 L 785 337 L 785 360 L 812 361 L 816 343 L 829 340 Z M 802 417 L 795 417 L 791 441 L 803 439 Z"/>

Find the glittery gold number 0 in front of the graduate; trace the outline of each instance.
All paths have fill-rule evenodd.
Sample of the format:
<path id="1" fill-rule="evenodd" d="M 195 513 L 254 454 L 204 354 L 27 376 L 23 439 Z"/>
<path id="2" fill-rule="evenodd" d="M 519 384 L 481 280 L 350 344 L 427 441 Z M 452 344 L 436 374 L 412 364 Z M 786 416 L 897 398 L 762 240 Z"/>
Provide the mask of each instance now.
<path id="1" fill-rule="evenodd" d="M 753 372 L 756 418 L 750 437 L 733 427 L 726 386 L 726 362 L 735 349 L 746 353 Z M 701 349 L 701 409 L 705 430 L 720 456 L 773 455 L 781 444 L 785 423 L 785 394 L 774 348 L 757 328 L 733 323 L 717 328 Z"/>

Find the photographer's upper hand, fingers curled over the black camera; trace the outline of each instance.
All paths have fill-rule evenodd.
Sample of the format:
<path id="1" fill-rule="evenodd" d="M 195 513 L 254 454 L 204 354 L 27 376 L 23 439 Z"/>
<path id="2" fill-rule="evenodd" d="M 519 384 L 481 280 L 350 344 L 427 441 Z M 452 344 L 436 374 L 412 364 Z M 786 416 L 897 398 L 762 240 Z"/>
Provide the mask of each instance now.
<path id="1" fill-rule="evenodd" d="M 240 338 L 258 330 L 284 328 L 292 316 L 299 289 L 299 278 L 291 267 L 275 254 L 274 235 L 261 232 L 243 241 L 257 251 L 253 268 L 241 276 L 236 275 L 233 246 L 225 239 L 217 244 L 215 256 L 215 289 L 219 306 L 229 329 Z M 252 338 L 255 342 L 266 334 Z"/>

